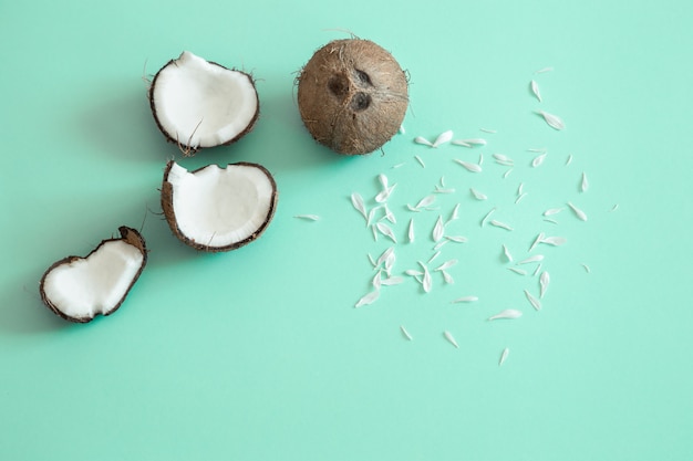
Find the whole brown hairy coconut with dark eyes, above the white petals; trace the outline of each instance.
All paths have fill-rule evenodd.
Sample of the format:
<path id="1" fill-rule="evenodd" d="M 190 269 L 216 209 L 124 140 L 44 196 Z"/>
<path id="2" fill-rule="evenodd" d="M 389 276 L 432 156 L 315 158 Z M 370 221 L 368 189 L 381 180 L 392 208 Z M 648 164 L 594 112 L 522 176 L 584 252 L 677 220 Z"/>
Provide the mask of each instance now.
<path id="1" fill-rule="evenodd" d="M 303 124 L 322 145 L 368 154 L 397 133 L 408 103 L 400 64 L 380 45 L 335 40 L 313 54 L 298 77 Z"/>

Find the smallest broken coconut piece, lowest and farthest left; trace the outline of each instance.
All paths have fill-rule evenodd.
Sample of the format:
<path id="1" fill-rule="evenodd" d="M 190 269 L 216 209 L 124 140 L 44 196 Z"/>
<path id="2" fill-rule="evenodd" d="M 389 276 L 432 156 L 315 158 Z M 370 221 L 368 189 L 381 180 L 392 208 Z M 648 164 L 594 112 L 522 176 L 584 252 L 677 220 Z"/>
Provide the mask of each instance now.
<path id="1" fill-rule="evenodd" d="M 121 238 L 102 241 L 85 258 L 66 256 L 45 271 L 39 291 L 51 311 L 86 323 L 123 304 L 147 262 L 147 250 L 139 232 L 118 230 Z"/>

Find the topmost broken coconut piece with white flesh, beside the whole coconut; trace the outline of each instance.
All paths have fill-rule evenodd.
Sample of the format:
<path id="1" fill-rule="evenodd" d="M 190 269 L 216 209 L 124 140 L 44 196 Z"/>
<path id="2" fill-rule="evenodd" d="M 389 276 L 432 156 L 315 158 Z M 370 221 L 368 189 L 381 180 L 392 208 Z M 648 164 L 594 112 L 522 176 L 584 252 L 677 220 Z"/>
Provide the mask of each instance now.
<path id="1" fill-rule="evenodd" d="M 260 107 L 249 74 L 189 51 L 156 73 L 149 105 L 161 132 L 186 154 L 238 140 L 252 129 Z"/>

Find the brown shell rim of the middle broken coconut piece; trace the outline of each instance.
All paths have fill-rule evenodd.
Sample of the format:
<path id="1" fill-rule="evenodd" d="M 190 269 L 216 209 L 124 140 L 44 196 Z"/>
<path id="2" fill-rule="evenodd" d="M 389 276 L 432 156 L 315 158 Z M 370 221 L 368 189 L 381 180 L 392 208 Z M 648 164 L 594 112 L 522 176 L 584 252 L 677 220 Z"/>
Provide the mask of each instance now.
<path id="1" fill-rule="evenodd" d="M 162 182 L 162 193 L 161 193 L 161 196 L 162 196 L 162 209 L 164 211 L 164 217 L 166 218 L 166 222 L 168 222 L 168 227 L 170 228 L 170 230 L 174 233 L 174 235 L 176 235 L 176 238 L 178 238 L 178 240 L 180 240 L 183 243 L 194 248 L 195 250 L 205 251 L 205 252 L 209 252 L 209 253 L 220 253 L 220 252 L 231 251 L 231 250 L 236 250 L 236 249 L 239 249 L 241 247 L 245 247 L 248 243 L 257 240 L 265 232 L 265 230 L 269 226 L 270 221 L 275 217 L 275 211 L 277 210 L 277 200 L 278 200 L 279 193 L 278 193 L 278 190 L 277 190 L 277 181 L 275 180 L 272 175 L 269 172 L 269 170 L 267 168 L 265 168 L 262 165 L 250 163 L 250 161 L 237 161 L 237 163 L 234 163 L 234 164 L 228 164 L 224 168 L 234 167 L 234 166 L 257 168 L 269 180 L 269 184 L 270 184 L 270 186 L 272 188 L 272 193 L 271 193 L 271 199 L 269 200 L 269 210 L 267 211 L 267 214 L 265 216 L 265 220 L 262 221 L 262 224 L 258 229 L 256 229 L 250 235 L 246 237 L 242 240 L 239 240 L 239 241 L 236 241 L 234 243 L 230 243 L 228 245 L 223 245 L 223 247 L 207 245 L 207 244 L 200 243 L 200 242 L 198 242 L 198 241 L 196 241 L 194 239 L 190 239 L 178 227 L 178 221 L 176 219 L 176 212 L 175 212 L 175 208 L 174 208 L 174 195 L 173 195 L 174 186 L 170 182 L 168 182 L 168 174 L 170 172 L 170 169 L 173 168 L 174 165 L 176 165 L 176 161 L 175 160 L 169 160 L 166 164 L 166 168 L 164 169 L 164 180 Z M 195 175 L 198 171 L 201 171 L 205 168 L 209 168 L 211 166 L 215 166 L 215 165 L 214 164 L 213 165 L 206 165 L 204 167 L 200 167 L 200 168 L 197 168 L 197 169 L 195 169 L 193 171 L 187 171 L 187 172 L 190 174 L 190 175 Z"/>

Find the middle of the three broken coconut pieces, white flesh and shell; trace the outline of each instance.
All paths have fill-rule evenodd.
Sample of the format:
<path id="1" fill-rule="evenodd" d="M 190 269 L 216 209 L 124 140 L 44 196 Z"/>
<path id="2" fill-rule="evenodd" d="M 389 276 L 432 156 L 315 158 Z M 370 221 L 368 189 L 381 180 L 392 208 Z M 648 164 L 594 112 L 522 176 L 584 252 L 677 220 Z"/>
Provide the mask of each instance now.
<path id="1" fill-rule="evenodd" d="M 173 233 L 203 251 L 228 251 L 265 231 L 277 208 L 277 184 L 262 166 L 208 165 L 188 171 L 168 161 L 162 208 Z"/>

